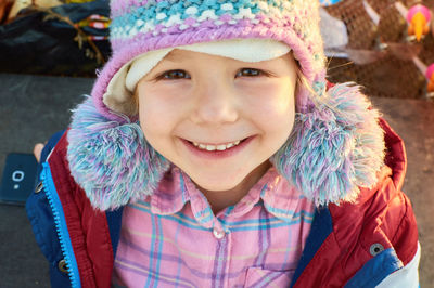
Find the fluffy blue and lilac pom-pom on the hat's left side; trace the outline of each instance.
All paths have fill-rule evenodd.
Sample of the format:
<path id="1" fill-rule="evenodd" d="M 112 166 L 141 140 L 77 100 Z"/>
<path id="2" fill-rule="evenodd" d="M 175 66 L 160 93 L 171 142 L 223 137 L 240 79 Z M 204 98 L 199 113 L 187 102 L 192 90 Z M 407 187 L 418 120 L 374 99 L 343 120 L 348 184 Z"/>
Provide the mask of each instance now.
<path id="1" fill-rule="evenodd" d="M 92 99 L 73 110 L 67 160 L 75 181 L 99 210 L 150 195 L 169 162 L 145 141 L 138 123 L 102 116 Z"/>

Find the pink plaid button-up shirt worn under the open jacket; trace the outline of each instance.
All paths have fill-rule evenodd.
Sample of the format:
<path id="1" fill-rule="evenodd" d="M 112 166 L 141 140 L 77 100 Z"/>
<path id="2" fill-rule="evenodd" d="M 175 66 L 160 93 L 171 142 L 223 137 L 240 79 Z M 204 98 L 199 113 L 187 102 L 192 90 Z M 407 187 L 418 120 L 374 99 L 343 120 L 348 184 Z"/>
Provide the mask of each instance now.
<path id="1" fill-rule="evenodd" d="M 178 168 L 154 195 L 124 208 L 116 287 L 286 287 L 314 205 L 270 168 L 215 215 Z"/>

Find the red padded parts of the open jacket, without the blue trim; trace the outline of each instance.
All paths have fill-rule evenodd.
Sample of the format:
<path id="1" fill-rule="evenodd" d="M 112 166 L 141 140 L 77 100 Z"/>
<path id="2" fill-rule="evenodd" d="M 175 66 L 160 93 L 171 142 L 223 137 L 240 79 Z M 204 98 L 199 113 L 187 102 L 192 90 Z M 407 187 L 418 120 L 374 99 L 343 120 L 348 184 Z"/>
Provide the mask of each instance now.
<path id="1" fill-rule="evenodd" d="M 393 248 L 406 265 L 416 254 L 418 231 L 407 196 L 400 192 L 407 168 L 400 138 L 380 120 L 387 147 L 386 166 L 378 184 L 362 188 L 357 204 L 329 205 L 314 220 L 294 287 L 342 287 L 373 258 L 372 247 Z M 112 220 L 90 206 L 84 191 L 71 176 L 66 161 L 66 135 L 49 158 L 52 178 L 62 202 L 81 287 L 110 287 L 114 262 Z M 327 232 L 324 221 L 330 225 Z M 119 223 L 119 221 L 117 221 Z M 116 227 L 117 230 L 119 227 Z M 324 232 L 322 232 L 324 230 Z M 112 235 L 113 236 L 113 235 Z M 323 237 L 323 238 L 321 238 Z"/>

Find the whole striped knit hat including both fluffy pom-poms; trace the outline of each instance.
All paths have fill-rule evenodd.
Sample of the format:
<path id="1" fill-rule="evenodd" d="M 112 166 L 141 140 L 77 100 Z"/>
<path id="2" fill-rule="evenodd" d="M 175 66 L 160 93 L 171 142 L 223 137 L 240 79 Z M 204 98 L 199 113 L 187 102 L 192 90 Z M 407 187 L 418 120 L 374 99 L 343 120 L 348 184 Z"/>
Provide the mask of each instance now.
<path id="1" fill-rule="evenodd" d="M 354 83 L 326 93 L 318 0 L 112 0 L 111 6 L 113 56 L 67 134 L 71 173 L 95 209 L 152 195 L 170 169 L 145 140 L 128 96 L 112 89 L 117 77 L 129 82 L 131 63 L 149 53 L 233 39 L 284 43 L 317 94 L 298 88 L 291 135 L 270 157 L 277 171 L 317 206 L 355 200 L 359 187 L 375 184 L 384 165 L 379 112 Z M 126 90 L 140 75 L 133 78 Z"/>

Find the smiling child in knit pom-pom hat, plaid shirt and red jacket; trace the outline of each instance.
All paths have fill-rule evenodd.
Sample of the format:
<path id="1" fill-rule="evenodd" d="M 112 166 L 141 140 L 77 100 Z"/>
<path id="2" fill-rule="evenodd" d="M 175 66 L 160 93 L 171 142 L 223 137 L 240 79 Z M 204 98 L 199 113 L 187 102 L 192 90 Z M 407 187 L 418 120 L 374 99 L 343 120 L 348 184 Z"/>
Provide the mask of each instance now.
<path id="1" fill-rule="evenodd" d="M 327 83 L 317 1 L 111 5 L 27 201 L 53 287 L 418 287 L 404 145 Z"/>

